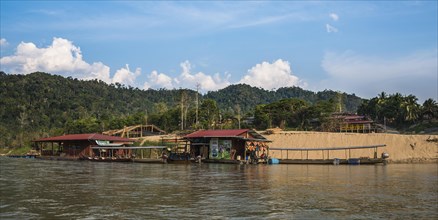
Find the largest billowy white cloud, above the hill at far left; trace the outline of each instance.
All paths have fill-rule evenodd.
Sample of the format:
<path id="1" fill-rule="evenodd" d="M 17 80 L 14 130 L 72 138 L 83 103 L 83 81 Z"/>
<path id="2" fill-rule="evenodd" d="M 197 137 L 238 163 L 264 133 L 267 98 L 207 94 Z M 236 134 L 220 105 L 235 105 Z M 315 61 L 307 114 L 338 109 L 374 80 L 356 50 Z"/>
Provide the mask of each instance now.
<path id="1" fill-rule="evenodd" d="M 53 38 L 52 45 L 46 48 L 21 42 L 14 55 L 0 58 L 0 64 L 3 71 L 13 74 L 43 71 L 80 79 L 100 79 L 111 82 L 108 66 L 101 62 L 92 64 L 85 62 L 82 59 L 81 49 L 63 38 Z"/>

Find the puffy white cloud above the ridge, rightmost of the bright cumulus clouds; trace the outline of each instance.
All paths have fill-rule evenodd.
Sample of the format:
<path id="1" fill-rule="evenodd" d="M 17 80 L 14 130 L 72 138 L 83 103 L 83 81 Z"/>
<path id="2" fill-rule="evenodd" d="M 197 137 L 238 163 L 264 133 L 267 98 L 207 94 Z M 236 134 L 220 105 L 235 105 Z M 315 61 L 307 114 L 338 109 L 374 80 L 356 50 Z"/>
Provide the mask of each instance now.
<path id="1" fill-rule="evenodd" d="M 281 59 L 273 63 L 263 62 L 255 65 L 248 70 L 239 83 L 267 90 L 302 84 L 298 77 L 292 74 L 289 62 Z"/>

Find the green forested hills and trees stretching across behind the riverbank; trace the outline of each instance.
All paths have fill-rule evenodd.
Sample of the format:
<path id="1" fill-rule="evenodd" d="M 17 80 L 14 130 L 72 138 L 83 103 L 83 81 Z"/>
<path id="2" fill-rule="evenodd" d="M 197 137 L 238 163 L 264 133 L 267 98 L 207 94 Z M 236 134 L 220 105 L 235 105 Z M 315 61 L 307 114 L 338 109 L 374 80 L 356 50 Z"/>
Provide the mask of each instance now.
<path id="1" fill-rule="evenodd" d="M 189 89 L 140 90 L 42 72 L 0 72 L 0 146 L 29 146 L 40 137 L 136 124 L 155 124 L 167 132 L 269 127 L 315 130 L 329 124 L 331 113 L 356 112 L 358 108 L 359 113 L 391 125 L 436 121 L 436 102 L 430 99 L 420 106 L 416 101 L 412 95 L 383 94 L 383 98 L 363 100 L 330 90 L 315 93 L 290 87 L 267 91 L 243 84 L 202 95 Z"/>

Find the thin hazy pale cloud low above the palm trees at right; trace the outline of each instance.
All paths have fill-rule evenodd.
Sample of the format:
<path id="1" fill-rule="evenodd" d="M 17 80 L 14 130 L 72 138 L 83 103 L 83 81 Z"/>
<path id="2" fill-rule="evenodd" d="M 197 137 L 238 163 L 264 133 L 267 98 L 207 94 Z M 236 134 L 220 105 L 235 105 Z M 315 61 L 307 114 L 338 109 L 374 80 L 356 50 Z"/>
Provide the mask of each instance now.
<path id="1" fill-rule="evenodd" d="M 436 99 L 437 59 L 436 49 L 401 57 L 370 57 L 351 51 L 328 52 L 322 67 L 329 78 L 319 89 L 354 92 L 367 98 L 385 91 L 413 94 L 422 100 Z"/>

